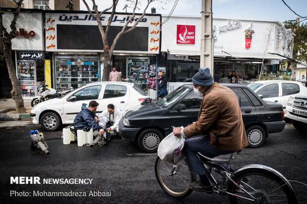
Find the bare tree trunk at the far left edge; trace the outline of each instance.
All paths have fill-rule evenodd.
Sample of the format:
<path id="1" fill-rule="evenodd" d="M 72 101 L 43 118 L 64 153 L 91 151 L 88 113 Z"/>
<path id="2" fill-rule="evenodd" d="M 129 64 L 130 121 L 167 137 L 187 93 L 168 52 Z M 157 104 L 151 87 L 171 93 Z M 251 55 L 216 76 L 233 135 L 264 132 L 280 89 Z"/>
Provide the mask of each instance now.
<path id="1" fill-rule="evenodd" d="M 12 94 L 12 98 L 15 101 L 16 113 L 26 112 L 26 109 L 24 108 L 23 99 L 21 96 L 21 90 L 20 90 L 18 79 L 17 79 L 15 66 L 14 66 L 13 59 L 12 59 L 12 39 L 15 38 L 16 36 L 16 31 L 17 31 L 16 21 L 17 21 L 19 12 L 20 12 L 22 1 L 23 0 L 18 1 L 16 11 L 13 12 L 14 17 L 10 24 L 11 32 L 9 33 L 6 31 L 6 28 L 3 26 L 2 15 L 4 14 L 4 12 L 0 10 L 0 35 L 2 36 L 2 40 L 4 44 L 4 59 L 6 62 L 9 79 L 11 80 L 12 87 L 13 87 L 11 94 Z"/>

